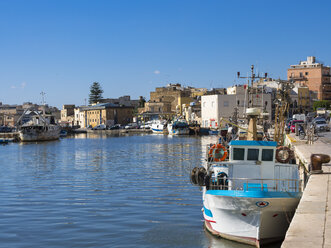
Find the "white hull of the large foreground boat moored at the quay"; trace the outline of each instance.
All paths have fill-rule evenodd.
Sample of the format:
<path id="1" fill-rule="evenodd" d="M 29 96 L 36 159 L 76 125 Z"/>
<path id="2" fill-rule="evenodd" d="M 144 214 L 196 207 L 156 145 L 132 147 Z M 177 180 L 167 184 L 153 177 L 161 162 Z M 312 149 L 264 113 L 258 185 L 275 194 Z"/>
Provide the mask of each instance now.
<path id="1" fill-rule="evenodd" d="M 208 192 L 208 191 L 207 191 Z M 265 197 L 204 194 L 205 227 L 214 235 L 260 245 L 282 240 L 301 194 L 263 193 Z M 235 194 L 235 191 L 234 191 Z"/>

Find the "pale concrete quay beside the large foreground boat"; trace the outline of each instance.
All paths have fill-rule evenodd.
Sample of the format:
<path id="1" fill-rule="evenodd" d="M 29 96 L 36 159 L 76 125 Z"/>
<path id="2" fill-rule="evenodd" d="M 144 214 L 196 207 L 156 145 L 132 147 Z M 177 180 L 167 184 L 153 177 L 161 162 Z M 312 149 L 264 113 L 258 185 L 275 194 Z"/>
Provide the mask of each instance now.
<path id="1" fill-rule="evenodd" d="M 331 156 L 331 133 L 319 135 L 312 145 L 299 140 L 294 134 L 287 136 L 288 142 L 294 147 L 297 159 L 306 169 L 310 164 L 311 154 Z M 322 170 L 322 174 L 309 175 L 282 248 L 331 248 L 331 164 L 324 164 Z"/>

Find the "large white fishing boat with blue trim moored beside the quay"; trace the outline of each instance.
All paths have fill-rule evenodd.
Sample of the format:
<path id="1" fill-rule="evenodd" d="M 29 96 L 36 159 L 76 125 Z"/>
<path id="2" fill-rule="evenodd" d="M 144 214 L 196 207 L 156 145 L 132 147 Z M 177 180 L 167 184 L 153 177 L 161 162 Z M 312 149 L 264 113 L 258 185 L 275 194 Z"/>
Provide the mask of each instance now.
<path id="1" fill-rule="evenodd" d="M 192 170 L 191 181 L 203 188 L 209 232 L 260 247 L 284 238 L 302 182 L 298 165 L 289 163 L 290 149 L 258 141 L 254 111 L 249 117 L 247 140 L 208 145 L 207 162 Z"/>

